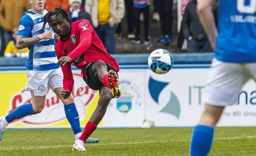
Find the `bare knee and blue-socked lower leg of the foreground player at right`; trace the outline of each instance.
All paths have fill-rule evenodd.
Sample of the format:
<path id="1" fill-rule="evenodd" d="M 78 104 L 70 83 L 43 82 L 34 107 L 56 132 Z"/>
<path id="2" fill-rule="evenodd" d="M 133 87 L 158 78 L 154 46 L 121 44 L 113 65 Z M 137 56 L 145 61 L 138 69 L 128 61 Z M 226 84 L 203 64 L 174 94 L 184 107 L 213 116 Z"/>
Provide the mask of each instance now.
<path id="1" fill-rule="evenodd" d="M 199 123 L 194 128 L 194 132 L 193 132 L 193 136 L 190 144 L 191 146 L 190 154 L 193 154 L 191 156 L 194 156 L 194 155 L 199 156 L 202 153 L 204 153 L 206 156 L 210 152 L 210 149 L 213 143 L 214 128 L 218 123 L 224 108 L 225 107 L 214 106 L 209 104 L 204 105 L 204 111 L 201 115 Z M 202 138 L 202 139 L 196 139 L 196 138 Z M 205 147 L 208 147 L 208 148 L 201 148 L 202 145 L 205 145 Z M 201 147 L 193 147 L 193 146 L 201 146 Z M 200 149 L 200 153 L 197 153 L 197 151 L 193 151 L 193 149 Z"/>

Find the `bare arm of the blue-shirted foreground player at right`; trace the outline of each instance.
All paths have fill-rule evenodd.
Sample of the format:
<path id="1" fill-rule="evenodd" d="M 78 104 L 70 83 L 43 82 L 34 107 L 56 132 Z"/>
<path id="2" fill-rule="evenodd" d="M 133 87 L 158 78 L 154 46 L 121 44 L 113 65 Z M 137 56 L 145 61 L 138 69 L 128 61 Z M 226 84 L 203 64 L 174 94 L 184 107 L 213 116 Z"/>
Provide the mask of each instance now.
<path id="1" fill-rule="evenodd" d="M 214 16 L 210 8 L 214 1 L 215 0 L 200 0 L 197 6 L 198 15 L 213 49 L 215 49 L 216 37 L 218 35 Z"/>

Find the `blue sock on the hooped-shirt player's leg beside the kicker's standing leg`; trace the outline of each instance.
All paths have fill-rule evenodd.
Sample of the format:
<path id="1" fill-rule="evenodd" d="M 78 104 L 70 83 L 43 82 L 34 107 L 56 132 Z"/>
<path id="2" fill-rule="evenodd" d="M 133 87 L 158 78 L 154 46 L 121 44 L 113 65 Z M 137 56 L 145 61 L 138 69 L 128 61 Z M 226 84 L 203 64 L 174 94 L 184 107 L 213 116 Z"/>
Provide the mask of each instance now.
<path id="1" fill-rule="evenodd" d="M 68 122 L 71 125 L 71 128 L 74 132 L 74 135 L 78 133 L 82 133 L 80 122 L 79 122 L 79 115 L 78 111 L 76 110 L 75 103 L 70 103 L 68 105 L 64 105 L 65 114 L 68 119 Z"/>

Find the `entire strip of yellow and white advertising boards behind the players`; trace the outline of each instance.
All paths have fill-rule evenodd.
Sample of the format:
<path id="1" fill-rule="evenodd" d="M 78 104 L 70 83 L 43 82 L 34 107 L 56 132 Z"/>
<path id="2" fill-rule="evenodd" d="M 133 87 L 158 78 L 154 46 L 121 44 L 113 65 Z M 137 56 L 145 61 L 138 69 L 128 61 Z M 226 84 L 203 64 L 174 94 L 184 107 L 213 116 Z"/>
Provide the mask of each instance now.
<path id="1" fill-rule="evenodd" d="M 144 119 L 154 121 L 156 127 L 193 127 L 197 124 L 204 104 L 202 96 L 208 77 L 209 65 L 174 66 L 164 75 L 153 73 L 147 66 L 121 66 L 119 75 L 122 96 L 112 99 L 106 115 L 98 127 L 128 128 L 141 127 Z M 14 76 L 14 74 L 16 74 Z M 98 102 L 94 92 L 83 82 L 79 70 L 74 70 L 75 103 L 80 115 L 81 126 L 90 119 Z M 6 116 L 21 104 L 31 102 L 26 86 L 25 70 L 6 70 L 1 79 L 19 76 L 20 81 L 3 84 L 4 103 L 0 116 Z M 218 126 L 256 126 L 256 84 L 246 83 L 238 104 L 224 110 Z M 45 109 L 38 115 L 17 120 L 10 128 L 69 128 L 64 108 L 52 91 L 48 91 Z"/>

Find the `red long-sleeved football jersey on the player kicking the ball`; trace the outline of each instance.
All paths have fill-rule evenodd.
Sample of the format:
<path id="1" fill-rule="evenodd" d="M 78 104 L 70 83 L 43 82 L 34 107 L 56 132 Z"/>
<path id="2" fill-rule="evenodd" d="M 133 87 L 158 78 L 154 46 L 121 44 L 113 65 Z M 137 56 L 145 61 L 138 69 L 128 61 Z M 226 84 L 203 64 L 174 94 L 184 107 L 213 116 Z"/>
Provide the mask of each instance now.
<path id="1" fill-rule="evenodd" d="M 82 71 L 86 64 L 103 60 L 117 72 L 119 71 L 116 59 L 108 54 L 88 20 L 79 20 L 71 24 L 70 37 L 66 39 L 60 38 L 56 44 L 56 55 L 58 59 L 64 56 L 72 59 L 71 63 L 61 66 L 64 75 L 64 90 L 69 90 L 70 92 L 74 85 L 71 64 Z"/>

